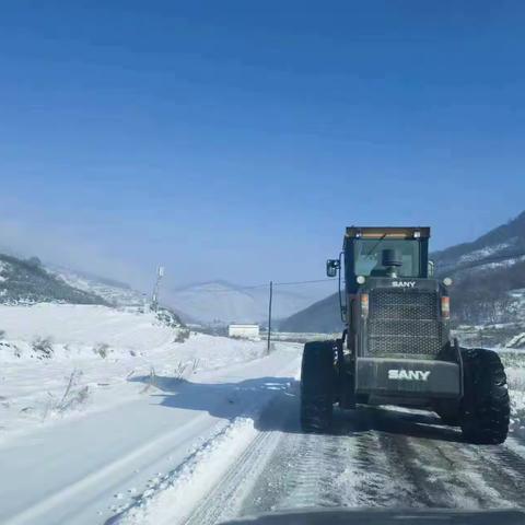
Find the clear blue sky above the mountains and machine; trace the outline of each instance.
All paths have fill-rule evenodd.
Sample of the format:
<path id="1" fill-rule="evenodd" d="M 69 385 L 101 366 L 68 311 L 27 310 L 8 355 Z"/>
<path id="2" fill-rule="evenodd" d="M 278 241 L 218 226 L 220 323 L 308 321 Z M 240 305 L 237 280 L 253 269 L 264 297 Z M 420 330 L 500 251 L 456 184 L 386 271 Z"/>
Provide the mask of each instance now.
<path id="1" fill-rule="evenodd" d="M 137 285 L 323 277 L 525 208 L 525 7 L 5 2 L 0 246 Z"/>

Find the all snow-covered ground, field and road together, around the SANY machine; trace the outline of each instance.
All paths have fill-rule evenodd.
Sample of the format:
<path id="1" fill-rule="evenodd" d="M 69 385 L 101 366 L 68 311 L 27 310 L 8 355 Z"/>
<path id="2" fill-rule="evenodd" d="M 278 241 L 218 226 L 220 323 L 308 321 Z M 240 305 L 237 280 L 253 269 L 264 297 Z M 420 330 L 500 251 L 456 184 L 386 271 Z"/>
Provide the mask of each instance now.
<path id="1" fill-rule="evenodd" d="M 273 509 L 522 506 L 525 352 L 501 351 L 502 446 L 431 412 L 298 421 L 302 345 L 189 334 L 104 306 L 0 306 L 0 523 L 198 524 Z"/>

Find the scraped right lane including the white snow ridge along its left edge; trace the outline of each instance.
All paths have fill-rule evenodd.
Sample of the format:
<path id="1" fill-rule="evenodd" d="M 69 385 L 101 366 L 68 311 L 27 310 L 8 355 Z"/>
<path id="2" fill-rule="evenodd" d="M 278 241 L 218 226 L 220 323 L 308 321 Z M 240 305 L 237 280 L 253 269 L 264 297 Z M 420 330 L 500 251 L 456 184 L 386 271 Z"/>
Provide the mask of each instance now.
<path id="1" fill-rule="evenodd" d="M 202 471 L 197 465 L 175 470 L 162 490 L 138 499 L 115 521 L 206 525 L 332 505 L 525 506 L 525 443 L 520 439 L 501 446 L 465 444 L 459 430 L 443 427 L 434 415 L 394 407 L 336 413 L 329 435 L 302 433 L 298 384 L 292 382 L 255 427 L 232 423 L 231 435 L 203 452 Z M 224 459 L 228 450 L 234 453 Z"/>

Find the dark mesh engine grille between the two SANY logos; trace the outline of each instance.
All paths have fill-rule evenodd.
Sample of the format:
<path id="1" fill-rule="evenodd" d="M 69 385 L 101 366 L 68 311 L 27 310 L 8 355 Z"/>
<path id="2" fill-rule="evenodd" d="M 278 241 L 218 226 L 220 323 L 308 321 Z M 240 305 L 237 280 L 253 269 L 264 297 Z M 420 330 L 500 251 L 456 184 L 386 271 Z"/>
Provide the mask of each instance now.
<path id="1" fill-rule="evenodd" d="M 433 357 L 444 342 L 439 296 L 428 290 L 375 289 L 369 294 L 371 357 Z"/>

